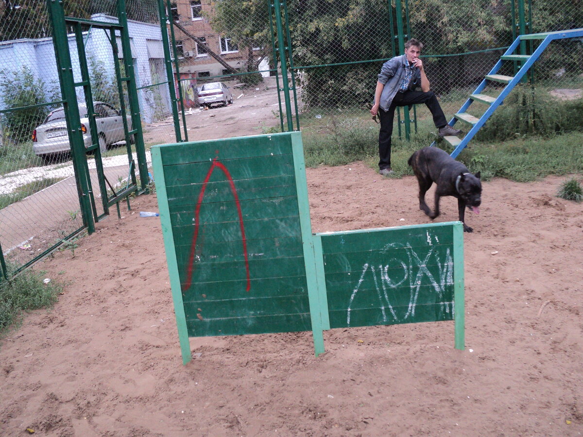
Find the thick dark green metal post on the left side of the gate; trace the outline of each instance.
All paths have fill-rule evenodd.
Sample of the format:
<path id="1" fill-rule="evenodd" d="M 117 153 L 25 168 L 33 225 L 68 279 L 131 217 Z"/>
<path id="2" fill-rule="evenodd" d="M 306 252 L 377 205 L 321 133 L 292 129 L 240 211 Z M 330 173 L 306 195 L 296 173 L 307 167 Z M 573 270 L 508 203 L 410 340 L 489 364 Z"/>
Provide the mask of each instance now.
<path id="1" fill-rule="evenodd" d="M 69 144 L 71 144 L 79 206 L 83 217 L 83 225 L 87 227 L 89 234 L 93 234 L 95 232 L 95 221 L 91 208 L 90 182 L 87 178 L 89 168 L 87 167 L 85 142 L 83 142 L 83 133 L 80 126 L 79 105 L 75 92 L 71 54 L 69 53 L 65 12 L 62 3 L 57 0 L 47 0 L 47 10 L 52 28 L 52 42 L 55 47 L 61 94 L 64 100 L 65 120 L 68 128 Z"/>

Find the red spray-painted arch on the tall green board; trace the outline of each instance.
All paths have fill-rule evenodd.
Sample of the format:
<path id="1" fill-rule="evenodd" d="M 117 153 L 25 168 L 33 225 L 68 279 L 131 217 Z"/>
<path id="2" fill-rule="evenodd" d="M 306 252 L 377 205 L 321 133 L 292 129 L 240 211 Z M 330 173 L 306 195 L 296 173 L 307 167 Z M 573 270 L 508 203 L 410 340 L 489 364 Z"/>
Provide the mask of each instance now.
<path id="1" fill-rule="evenodd" d="M 209 182 L 210 175 L 212 175 L 215 168 L 219 168 L 223 171 L 224 175 L 229 180 L 229 185 L 231 187 L 231 192 L 233 193 L 233 197 L 235 198 L 235 203 L 237 205 L 237 213 L 239 214 L 239 224 L 241 227 L 241 240 L 243 240 L 243 256 L 245 257 L 245 272 L 247 274 L 247 288 L 245 291 L 251 290 L 251 279 L 249 276 L 249 257 L 247 255 L 247 239 L 245 238 L 245 226 L 243 224 L 243 212 L 241 212 L 241 202 L 239 202 L 239 196 L 237 196 L 237 190 L 235 189 L 235 182 L 231 177 L 229 170 L 225 167 L 222 163 L 217 161 L 217 158 L 213 160 L 212 165 L 210 166 L 209 172 L 206 174 L 205 181 L 202 183 L 201 193 L 198 195 L 198 201 L 196 202 L 195 208 L 195 223 L 194 223 L 194 237 L 192 237 L 192 244 L 190 248 L 190 256 L 188 258 L 188 266 L 187 266 L 187 278 L 186 282 L 182 285 L 182 291 L 188 290 L 192 285 L 192 269 L 194 267 L 194 256 L 196 252 L 196 238 L 198 238 L 198 231 L 201 225 L 200 223 L 200 213 L 201 213 L 201 204 L 202 199 L 205 197 L 205 190 L 206 185 Z"/>

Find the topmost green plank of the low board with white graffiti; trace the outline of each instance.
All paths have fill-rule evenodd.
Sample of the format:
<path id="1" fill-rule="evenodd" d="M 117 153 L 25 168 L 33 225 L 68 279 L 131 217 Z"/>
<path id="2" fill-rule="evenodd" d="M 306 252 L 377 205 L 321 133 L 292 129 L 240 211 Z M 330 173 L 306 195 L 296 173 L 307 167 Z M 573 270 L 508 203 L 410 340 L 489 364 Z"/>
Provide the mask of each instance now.
<path id="1" fill-rule="evenodd" d="M 324 232 L 317 235 L 322 237 L 324 253 L 390 251 L 399 247 L 452 244 L 453 242 L 450 223 L 377 228 L 366 231 Z"/>

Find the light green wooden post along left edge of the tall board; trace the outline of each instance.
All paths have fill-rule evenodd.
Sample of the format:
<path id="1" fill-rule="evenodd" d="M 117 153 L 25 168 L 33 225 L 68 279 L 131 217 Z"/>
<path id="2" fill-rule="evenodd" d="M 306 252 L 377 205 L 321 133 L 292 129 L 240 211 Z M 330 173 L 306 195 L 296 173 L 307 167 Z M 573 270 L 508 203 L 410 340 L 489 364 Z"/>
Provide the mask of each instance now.
<path id="1" fill-rule="evenodd" d="M 172 224 L 170 222 L 170 209 L 168 208 L 168 196 L 166 193 L 166 182 L 164 181 L 164 167 L 160 147 L 152 148 L 152 168 L 156 175 L 156 196 L 160 212 L 160 224 L 164 238 L 164 248 L 166 249 L 166 259 L 169 272 L 178 272 L 178 262 L 176 260 L 176 249 L 174 247 L 174 236 Z M 176 326 L 178 328 L 178 341 L 182 353 L 182 364 L 192 360 L 190 343 L 188 341 L 188 329 L 186 325 L 186 315 L 184 313 L 184 302 L 180 287 L 180 278 L 177 274 L 170 274 L 170 287 L 172 290 L 172 301 L 174 302 L 174 313 L 176 316 Z"/>

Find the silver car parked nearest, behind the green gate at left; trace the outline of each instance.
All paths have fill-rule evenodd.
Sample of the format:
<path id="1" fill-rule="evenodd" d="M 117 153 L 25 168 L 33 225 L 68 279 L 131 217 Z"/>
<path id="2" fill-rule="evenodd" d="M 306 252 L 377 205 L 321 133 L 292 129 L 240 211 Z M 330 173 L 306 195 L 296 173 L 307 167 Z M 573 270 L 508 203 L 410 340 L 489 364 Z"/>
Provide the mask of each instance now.
<path id="1" fill-rule="evenodd" d="M 124 123 L 121 112 L 110 104 L 96 101 L 93 103 L 93 108 L 97 114 L 95 122 L 97 135 L 99 135 L 99 149 L 101 153 L 104 153 L 108 145 L 125 140 Z M 87 148 L 91 146 L 91 134 L 89 133 L 89 118 L 87 118 L 85 104 L 79 104 L 79 115 L 83 141 L 85 148 Z M 128 129 L 131 131 L 131 117 L 128 116 L 127 119 Z M 65 108 L 61 107 L 51 111 L 44 119 L 43 124 L 34 129 L 32 139 L 34 154 L 43 157 L 46 161 L 55 155 L 71 151 L 65 121 Z"/>

